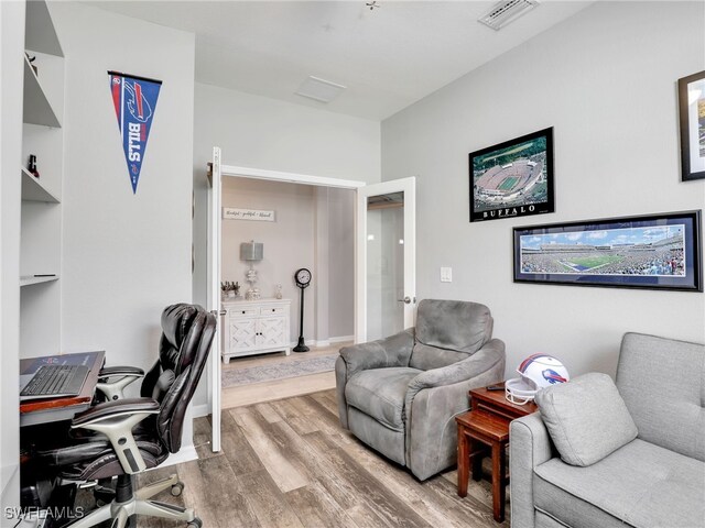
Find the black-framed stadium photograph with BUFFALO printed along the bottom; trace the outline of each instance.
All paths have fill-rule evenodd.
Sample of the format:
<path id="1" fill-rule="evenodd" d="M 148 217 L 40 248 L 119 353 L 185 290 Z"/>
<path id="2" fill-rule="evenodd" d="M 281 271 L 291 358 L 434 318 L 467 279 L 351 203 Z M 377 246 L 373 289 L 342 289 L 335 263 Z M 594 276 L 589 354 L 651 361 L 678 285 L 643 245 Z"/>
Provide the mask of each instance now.
<path id="1" fill-rule="evenodd" d="M 553 128 L 469 154 L 470 222 L 553 212 Z"/>

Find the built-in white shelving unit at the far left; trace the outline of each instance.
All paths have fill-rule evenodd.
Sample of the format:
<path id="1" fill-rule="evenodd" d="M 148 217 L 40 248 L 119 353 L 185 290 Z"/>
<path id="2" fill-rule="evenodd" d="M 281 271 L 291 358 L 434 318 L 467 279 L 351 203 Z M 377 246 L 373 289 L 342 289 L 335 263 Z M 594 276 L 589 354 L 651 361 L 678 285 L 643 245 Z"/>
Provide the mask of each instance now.
<path id="1" fill-rule="evenodd" d="M 24 47 L 20 358 L 61 350 L 64 53 L 43 0 L 26 2 Z"/>

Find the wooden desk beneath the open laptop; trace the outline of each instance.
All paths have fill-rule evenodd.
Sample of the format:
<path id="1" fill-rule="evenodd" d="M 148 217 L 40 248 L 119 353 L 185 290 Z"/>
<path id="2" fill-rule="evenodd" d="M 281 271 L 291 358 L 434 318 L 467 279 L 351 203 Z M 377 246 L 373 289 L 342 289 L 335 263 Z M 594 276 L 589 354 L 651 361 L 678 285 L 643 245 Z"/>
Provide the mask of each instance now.
<path id="1" fill-rule="evenodd" d="M 105 355 L 104 351 L 99 351 L 21 360 L 21 375 L 33 374 L 40 366 L 47 364 L 83 364 L 90 367 L 90 371 L 78 396 L 21 402 L 20 427 L 70 420 L 77 413 L 86 410 L 93 400 L 96 384 L 98 383 L 98 373 L 102 369 Z"/>

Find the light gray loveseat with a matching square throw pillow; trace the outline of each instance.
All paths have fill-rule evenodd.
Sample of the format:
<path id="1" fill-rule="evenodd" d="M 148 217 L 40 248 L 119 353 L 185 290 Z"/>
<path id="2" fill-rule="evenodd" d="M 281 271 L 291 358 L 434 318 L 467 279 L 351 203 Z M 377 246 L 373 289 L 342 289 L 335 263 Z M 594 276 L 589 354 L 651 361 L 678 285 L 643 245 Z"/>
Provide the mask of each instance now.
<path id="1" fill-rule="evenodd" d="M 705 527 L 705 346 L 627 333 L 616 385 L 536 403 L 510 426 L 512 527 Z"/>

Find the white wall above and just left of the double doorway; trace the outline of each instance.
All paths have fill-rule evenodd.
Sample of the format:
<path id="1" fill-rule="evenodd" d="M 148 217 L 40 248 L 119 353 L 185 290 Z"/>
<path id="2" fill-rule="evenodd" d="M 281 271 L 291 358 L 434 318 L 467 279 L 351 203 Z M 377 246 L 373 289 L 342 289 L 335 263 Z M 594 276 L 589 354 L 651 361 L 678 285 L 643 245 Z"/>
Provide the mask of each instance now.
<path id="1" fill-rule="evenodd" d="M 203 305 L 207 285 L 205 175 L 214 146 L 221 147 L 226 165 L 368 183 L 381 179 L 379 122 L 336 114 L 323 107 L 317 110 L 196 84 L 193 295 L 194 301 Z M 294 321 L 292 318 L 292 327 L 296 328 Z M 205 383 L 202 383 L 194 400 L 205 406 L 206 399 Z"/>

